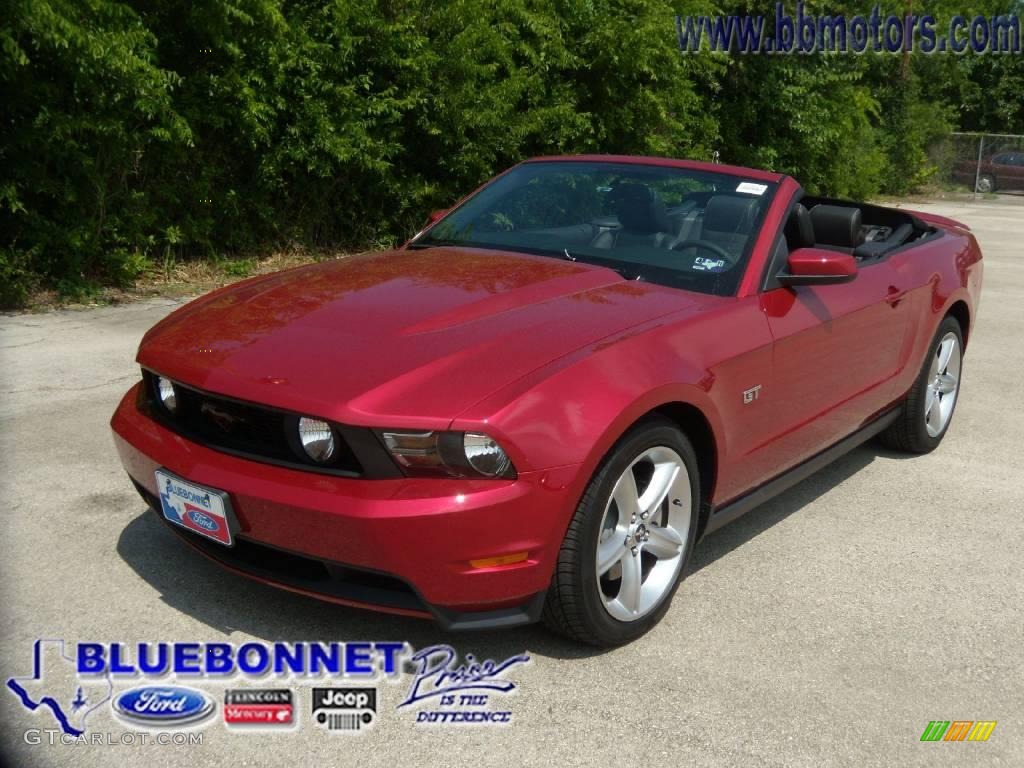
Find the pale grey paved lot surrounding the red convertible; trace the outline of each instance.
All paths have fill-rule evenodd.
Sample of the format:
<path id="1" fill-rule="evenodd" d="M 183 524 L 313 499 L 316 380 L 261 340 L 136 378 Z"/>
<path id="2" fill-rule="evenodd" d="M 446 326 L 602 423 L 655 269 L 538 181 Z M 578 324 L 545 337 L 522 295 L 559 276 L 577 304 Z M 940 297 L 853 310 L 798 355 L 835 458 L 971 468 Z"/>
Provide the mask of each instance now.
<path id="1" fill-rule="evenodd" d="M 666 620 L 607 652 L 541 628 L 445 636 L 222 572 L 143 514 L 108 427 L 138 378 L 139 338 L 177 304 L 0 317 L 4 680 L 28 674 L 37 638 L 531 656 L 512 676 L 508 726 L 417 726 L 394 710 L 407 679 L 381 684 L 378 721 L 357 737 L 308 720 L 286 734 L 214 723 L 177 749 L 29 744 L 26 730 L 53 720 L 5 688 L 8 763 L 1024 765 L 1024 199 L 908 207 L 967 222 L 985 254 L 942 446 L 908 459 L 869 443 L 712 535 Z M 125 731 L 109 709 L 92 717 L 90 729 Z M 998 724 L 984 743 L 922 743 L 931 720 Z"/>

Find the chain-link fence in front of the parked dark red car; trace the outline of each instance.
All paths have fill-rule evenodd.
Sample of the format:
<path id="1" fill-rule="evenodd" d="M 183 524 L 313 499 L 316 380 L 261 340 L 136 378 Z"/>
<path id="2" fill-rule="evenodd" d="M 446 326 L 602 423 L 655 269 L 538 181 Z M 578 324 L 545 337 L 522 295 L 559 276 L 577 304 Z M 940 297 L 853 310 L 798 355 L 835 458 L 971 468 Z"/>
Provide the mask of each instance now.
<path id="1" fill-rule="evenodd" d="M 974 198 L 1024 195 L 1024 135 L 951 133 L 931 147 L 936 181 Z"/>

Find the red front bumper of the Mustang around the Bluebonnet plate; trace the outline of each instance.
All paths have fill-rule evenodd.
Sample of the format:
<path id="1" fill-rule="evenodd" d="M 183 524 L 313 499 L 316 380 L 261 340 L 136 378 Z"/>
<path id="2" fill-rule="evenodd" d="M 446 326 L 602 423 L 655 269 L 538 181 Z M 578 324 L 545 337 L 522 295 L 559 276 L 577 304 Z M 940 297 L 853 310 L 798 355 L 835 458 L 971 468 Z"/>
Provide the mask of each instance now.
<path id="1" fill-rule="evenodd" d="M 121 462 L 151 506 L 161 467 L 230 495 L 240 525 L 234 548 L 168 523 L 222 565 L 335 602 L 432 616 L 447 629 L 540 616 L 575 506 L 578 467 L 515 480 L 315 474 L 190 442 L 139 412 L 137 393 L 138 385 L 111 422 Z M 517 552 L 527 552 L 526 560 L 470 565 Z"/>

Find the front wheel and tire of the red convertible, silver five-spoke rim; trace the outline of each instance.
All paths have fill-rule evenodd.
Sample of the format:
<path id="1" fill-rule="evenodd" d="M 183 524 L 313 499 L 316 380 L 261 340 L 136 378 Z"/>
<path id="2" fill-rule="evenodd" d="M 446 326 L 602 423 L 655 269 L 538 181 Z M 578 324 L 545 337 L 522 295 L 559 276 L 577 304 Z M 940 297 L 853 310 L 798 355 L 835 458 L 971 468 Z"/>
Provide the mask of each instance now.
<path id="1" fill-rule="evenodd" d="M 645 634 L 682 581 L 699 505 L 696 454 L 686 436 L 660 417 L 633 427 L 602 461 L 569 521 L 544 623 L 599 647 Z"/>

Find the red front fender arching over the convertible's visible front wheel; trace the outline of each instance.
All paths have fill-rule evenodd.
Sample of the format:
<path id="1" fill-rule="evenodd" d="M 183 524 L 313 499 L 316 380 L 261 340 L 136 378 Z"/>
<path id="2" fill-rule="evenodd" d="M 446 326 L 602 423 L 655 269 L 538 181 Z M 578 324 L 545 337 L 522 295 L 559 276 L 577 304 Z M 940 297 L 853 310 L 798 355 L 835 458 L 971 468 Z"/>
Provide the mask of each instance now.
<path id="1" fill-rule="evenodd" d="M 734 495 L 759 479 L 749 459 L 770 437 L 768 412 L 744 410 L 743 393 L 770 388 L 771 355 L 757 297 L 723 300 L 567 355 L 476 403 L 452 428 L 492 434 L 522 471 L 571 465 L 586 479 L 645 414 L 684 403 L 711 428 L 715 496 Z"/>

